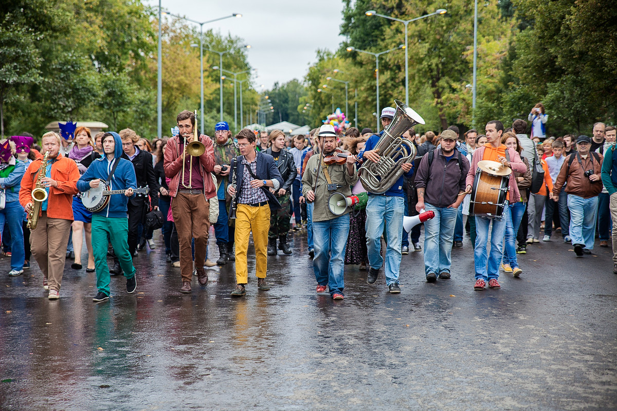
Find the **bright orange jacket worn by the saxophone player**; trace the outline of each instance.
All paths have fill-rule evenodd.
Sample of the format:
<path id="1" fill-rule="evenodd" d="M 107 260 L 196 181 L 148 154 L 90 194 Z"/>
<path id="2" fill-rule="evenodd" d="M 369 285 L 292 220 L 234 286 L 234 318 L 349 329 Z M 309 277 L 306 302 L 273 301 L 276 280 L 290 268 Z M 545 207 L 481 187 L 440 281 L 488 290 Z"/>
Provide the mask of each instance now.
<path id="1" fill-rule="evenodd" d="M 35 188 L 41 161 L 43 161 L 43 156 L 39 153 L 36 160 L 30 163 L 23 174 L 22 188 L 19 190 L 19 202 L 24 208 L 32 202 L 32 190 Z M 49 218 L 73 220 L 73 195 L 77 194 L 79 177 L 77 163 L 58 153 L 56 162 L 51 166 L 51 178 L 56 180 L 58 187 L 49 187 L 49 197 L 47 198 L 47 216 Z M 39 213 L 39 216 L 41 213 Z"/>

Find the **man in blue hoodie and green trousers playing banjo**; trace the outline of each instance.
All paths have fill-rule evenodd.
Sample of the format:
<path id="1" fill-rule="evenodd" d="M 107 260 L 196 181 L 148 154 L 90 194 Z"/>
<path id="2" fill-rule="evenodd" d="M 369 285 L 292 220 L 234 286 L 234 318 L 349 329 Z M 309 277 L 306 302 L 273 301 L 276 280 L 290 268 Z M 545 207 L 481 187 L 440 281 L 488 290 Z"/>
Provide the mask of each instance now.
<path id="1" fill-rule="evenodd" d="M 126 204 L 136 188 L 135 169 L 131 161 L 121 158 L 122 140 L 117 132 L 106 132 L 103 136 L 104 157 L 94 160 L 88 171 L 77 182 L 77 189 L 86 192 L 99 185 L 109 190 L 124 190 L 109 197 L 107 205 L 92 214 L 92 248 L 96 267 L 96 287 L 99 292 L 93 301 L 109 299 L 109 267 L 107 266 L 107 238 L 114 248 L 120 267 L 126 277 L 126 291 L 134 293 L 137 288 L 135 267 L 128 251 L 128 218 Z"/>

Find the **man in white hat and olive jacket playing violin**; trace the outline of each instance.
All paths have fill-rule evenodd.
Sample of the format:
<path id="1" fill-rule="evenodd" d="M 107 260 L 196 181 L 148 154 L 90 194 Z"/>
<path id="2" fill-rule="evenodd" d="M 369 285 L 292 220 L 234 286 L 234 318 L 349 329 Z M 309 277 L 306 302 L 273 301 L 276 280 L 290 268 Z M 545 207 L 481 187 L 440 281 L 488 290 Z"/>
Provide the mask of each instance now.
<path id="1" fill-rule="evenodd" d="M 307 162 L 302 176 L 302 195 L 314 202 L 313 206 L 313 271 L 317 280 L 317 292 L 323 293 L 328 285 L 333 299 L 343 299 L 345 248 L 349 233 L 349 211 L 337 216 L 328 207 L 334 192 L 345 197 L 351 195 L 351 187 L 358 181 L 355 158 L 351 153 L 336 153 L 336 132 L 330 124 L 324 124 L 317 134 L 321 155 L 313 155 Z M 331 165 L 324 158 L 331 155 Z M 341 157 L 344 156 L 344 157 Z M 342 160 L 342 163 L 341 163 Z M 334 161 L 337 161 L 336 163 Z M 400 234 L 399 234 L 400 238 Z"/>

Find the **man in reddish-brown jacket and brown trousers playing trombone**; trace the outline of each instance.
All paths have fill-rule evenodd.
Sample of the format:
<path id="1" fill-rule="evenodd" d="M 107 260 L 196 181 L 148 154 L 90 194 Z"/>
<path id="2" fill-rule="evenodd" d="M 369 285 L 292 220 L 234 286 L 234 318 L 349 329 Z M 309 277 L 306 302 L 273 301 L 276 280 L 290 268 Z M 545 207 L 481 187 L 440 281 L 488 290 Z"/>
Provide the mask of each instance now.
<path id="1" fill-rule="evenodd" d="M 215 160 L 212 139 L 204 134 L 197 137 L 194 113 L 184 110 L 178 114 L 176 120 L 180 132 L 167 142 L 163 167 L 165 176 L 171 179 L 169 195 L 172 197 L 173 219 L 180 242 L 180 292 L 190 293 L 193 278 L 193 238 L 197 281 L 202 287 L 208 283 L 204 262 L 210 230 L 208 200 L 217 195 L 210 177 Z"/>

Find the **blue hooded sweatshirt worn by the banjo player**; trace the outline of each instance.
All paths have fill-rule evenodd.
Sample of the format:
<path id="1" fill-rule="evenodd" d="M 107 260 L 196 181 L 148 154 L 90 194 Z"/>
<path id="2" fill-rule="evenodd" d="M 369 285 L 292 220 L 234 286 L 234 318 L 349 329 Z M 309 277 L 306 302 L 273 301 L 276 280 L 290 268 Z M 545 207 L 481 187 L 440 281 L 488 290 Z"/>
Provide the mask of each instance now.
<path id="1" fill-rule="evenodd" d="M 107 134 L 111 134 L 112 136 L 114 136 L 114 160 L 108 161 L 107 155 L 104 155 L 103 157 L 94 160 L 92 164 L 88 167 L 88 170 L 86 170 L 86 173 L 83 173 L 83 176 L 81 176 L 81 178 L 77 182 L 77 189 L 81 192 L 85 192 L 90 189 L 91 180 L 101 179 L 103 182 L 107 181 L 107 177 L 109 177 L 109 173 L 111 173 L 112 168 L 114 168 L 114 163 L 116 161 L 120 162 L 115 169 L 114 176 L 112 176 L 109 189 L 126 190 L 129 188 L 137 188 L 137 179 L 135 177 L 135 168 L 133 168 L 133 163 L 131 163 L 131 161 L 129 160 L 126 160 L 125 158 L 121 158 L 122 140 L 120 139 L 120 136 L 118 136 L 117 132 L 113 131 L 106 133 L 106 135 Z M 128 203 L 128 197 L 126 197 L 126 195 L 124 195 L 123 193 L 114 194 L 111 196 L 107 206 L 103 210 L 94 214 L 105 217 L 126 218 L 126 203 Z"/>

